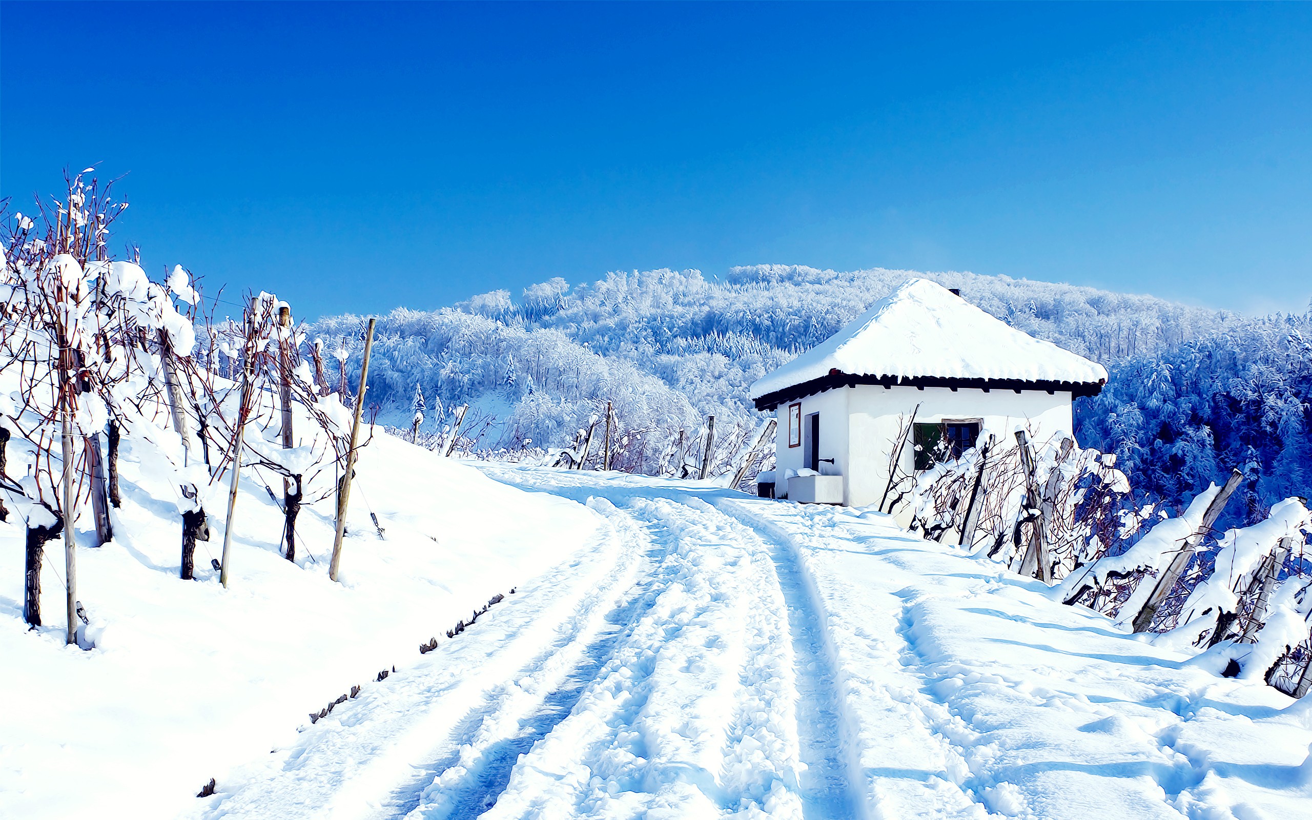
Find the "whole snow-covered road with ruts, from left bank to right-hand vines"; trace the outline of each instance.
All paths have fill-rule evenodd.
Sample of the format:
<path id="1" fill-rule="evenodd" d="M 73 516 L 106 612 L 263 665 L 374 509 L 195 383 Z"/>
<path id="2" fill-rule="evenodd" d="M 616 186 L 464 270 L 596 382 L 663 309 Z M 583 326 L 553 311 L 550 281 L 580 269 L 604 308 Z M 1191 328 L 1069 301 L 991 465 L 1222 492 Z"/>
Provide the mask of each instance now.
<path id="1" fill-rule="evenodd" d="M 1312 817 L 1312 714 L 875 514 L 489 467 L 569 562 L 202 817 Z"/>

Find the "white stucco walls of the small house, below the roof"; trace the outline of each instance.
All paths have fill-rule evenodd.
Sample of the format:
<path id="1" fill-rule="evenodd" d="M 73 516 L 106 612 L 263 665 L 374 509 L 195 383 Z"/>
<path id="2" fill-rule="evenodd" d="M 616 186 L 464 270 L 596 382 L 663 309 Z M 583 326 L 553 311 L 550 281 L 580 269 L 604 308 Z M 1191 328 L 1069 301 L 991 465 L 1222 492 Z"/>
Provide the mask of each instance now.
<path id="1" fill-rule="evenodd" d="M 888 484 L 890 457 L 896 446 L 900 417 L 909 417 L 916 404 L 917 422 L 980 420 L 980 436 L 992 433 L 1000 446 L 1014 446 L 1017 425 L 1027 425 L 1039 445 L 1057 433 L 1069 433 L 1071 394 L 1050 395 L 1042 390 L 956 390 L 947 387 L 880 387 L 857 384 L 802 399 L 803 424 L 807 413 L 820 413 L 820 472 L 845 476 L 844 502 L 849 506 L 878 504 Z M 775 459 L 779 482 L 785 470 L 799 470 L 804 447 L 789 447 L 789 405 L 777 411 Z M 911 442 L 903 447 L 900 464 L 911 472 L 914 454 Z"/>

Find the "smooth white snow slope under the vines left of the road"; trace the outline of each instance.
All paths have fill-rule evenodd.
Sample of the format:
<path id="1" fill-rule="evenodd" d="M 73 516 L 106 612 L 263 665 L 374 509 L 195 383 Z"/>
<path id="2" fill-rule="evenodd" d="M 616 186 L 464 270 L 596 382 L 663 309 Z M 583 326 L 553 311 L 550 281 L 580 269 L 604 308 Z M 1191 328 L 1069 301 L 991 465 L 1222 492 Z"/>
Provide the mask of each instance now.
<path id="1" fill-rule="evenodd" d="M 293 564 L 261 483 L 281 500 L 281 482 L 243 471 L 224 590 L 210 568 L 222 510 L 197 547 L 198 580 L 180 580 L 174 491 L 147 457 L 125 438 L 115 541 L 93 548 L 79 533 L 93 651 L 64 646 L 59 541 L 43 572 L 47 626 L 28 631 L 22 529 L 14 516 L 0 523 L 0 817 L 172 816 L 211 777 L 223 783 L 231 765 L 294 740 L 350 686 L 367 695 L 380 670 L 404 672 L 421 642 L 445 643 L 458 619 L 564 562 L 601 521 L 377 436 L 357 467 L 342 583 L 327 573 L 333 501 L 302 509 Z"/>

